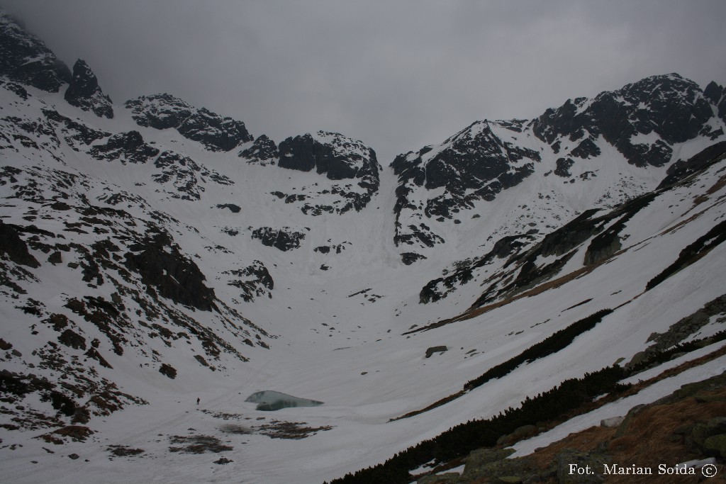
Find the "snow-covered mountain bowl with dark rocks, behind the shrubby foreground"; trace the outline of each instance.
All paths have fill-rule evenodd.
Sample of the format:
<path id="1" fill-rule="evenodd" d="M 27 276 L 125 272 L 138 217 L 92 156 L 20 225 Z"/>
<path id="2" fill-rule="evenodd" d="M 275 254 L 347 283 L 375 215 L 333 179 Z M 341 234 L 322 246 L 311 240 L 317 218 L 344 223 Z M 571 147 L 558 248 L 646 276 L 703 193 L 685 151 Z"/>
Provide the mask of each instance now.
<path id="1" fill-rule="evenodd" d="M 382 167 L 342 134 L 276 142 L 171 94 L 112 105 L 0 20 L 12 482 L 320 483 L 630 361 L 724 293 L 716 83 L 648 78 Z M 323 403 L 270 413 L 245 401 L 262 390 Z"/>

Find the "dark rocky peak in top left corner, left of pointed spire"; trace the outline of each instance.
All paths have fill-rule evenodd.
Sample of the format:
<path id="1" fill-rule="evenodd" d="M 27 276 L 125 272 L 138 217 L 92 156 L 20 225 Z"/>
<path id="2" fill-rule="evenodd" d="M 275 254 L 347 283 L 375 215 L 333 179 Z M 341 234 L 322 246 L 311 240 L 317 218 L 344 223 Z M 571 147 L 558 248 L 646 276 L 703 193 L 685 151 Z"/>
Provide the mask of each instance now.
<path id="1" fill-rule="evenodd" d="M 4 13 L 0 13 L 0 75 L 49 92 L 58 92 L 71 80 L 68 66 Z"/>

